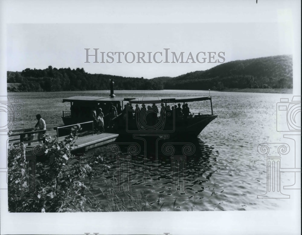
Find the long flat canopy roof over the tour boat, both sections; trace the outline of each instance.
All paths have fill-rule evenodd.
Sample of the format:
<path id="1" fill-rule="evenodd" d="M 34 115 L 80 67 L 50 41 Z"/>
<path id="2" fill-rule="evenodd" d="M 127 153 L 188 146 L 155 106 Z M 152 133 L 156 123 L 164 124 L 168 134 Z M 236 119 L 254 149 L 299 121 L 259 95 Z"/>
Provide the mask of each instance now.
<path id="1" fill-rule="evenodd" d="M 64 102 L 85 102 L 85 103 L 120 103 L 121 101 L 129 101 L 130 103 L 179 103 L 210 100 L 211 96 L 185 96 L 185 97 L 143 97 L 143 98 L 120 98 L 120 97 L 98 97 L 98 96 L 72 96 L 63 99 Z"/>

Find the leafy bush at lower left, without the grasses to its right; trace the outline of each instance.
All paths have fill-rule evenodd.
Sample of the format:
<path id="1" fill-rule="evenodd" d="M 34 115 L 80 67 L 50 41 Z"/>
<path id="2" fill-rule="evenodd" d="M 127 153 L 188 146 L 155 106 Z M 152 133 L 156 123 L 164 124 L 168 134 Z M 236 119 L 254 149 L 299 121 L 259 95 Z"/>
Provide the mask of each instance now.
<path id="1" fill-rule="evenodd" d="M 50 137 L 40 146 L 49 163 L 35 163 L 25 157 L 25 146 L 12 145 L 8 150 L 8 208 L 11 212 L 84 211 L 86 208 L 83 179 L 91 177 L 91 167 L 71 159 L 70 146 L 76 129 L 62 142 Z M 17 149 L 18 148 L 18 149 Z M 18 150 L 18 151 L 16 151 Z M 42 156 L 41 156 L 42 157 Z"/>

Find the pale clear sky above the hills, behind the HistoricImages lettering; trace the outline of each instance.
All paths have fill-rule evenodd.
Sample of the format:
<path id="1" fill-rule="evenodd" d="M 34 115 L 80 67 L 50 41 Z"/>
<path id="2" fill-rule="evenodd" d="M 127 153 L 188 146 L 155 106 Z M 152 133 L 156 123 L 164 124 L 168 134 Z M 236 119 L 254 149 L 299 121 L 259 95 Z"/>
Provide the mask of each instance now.
<path id="1" fill-rule="evenodd" d="M 223 52 L 225 62 L 245 60 L 263 56 L 293 53 L 293 28 L 289 22 L 202 22 L 202 23 L 104 23 L 104 24 L 8 24 L 7 26 L 7 70 L 22 71 L 26 68 L 45 69 L 84 68 L 89 73 L 102 73 L 118 76 L 154 78 L 159 76 L 178 76 L 196 70 L 206 70 L 220 63 L 208 63 L 209 53 L 215 52 L 211 59 L 219 59 Z M 94 57 L 86 61 L 86 50 L 98 52 L 133 52 L 134 63 L 127 63 L 121 54 L 113 63 L 92 63 Z M 153 54 L 164 53 L 169 48 L 169 60 L 172 53 L 179 56 L 184 52 L 184 61 L 189 53 L 193 60 L 189 63 L 155 63 Z M 151 62 L 136 63 L 137 52 L 152 52 Z M 195 58 L 206 57 L 205 63 Z M 211 53 L 211 56 L 214 54 Z M 165 56 L 156 55 L 156 60 Z M 101 53 L 98 53 L 100 62 Z M 132 55 L 127 55 L 131 62 Z M 109 62 L 111 60 L 108 59 Z M 199 59 L 199 61 L 203 61 Z M 220 62 L 222 60 L 220 59 Z"/>

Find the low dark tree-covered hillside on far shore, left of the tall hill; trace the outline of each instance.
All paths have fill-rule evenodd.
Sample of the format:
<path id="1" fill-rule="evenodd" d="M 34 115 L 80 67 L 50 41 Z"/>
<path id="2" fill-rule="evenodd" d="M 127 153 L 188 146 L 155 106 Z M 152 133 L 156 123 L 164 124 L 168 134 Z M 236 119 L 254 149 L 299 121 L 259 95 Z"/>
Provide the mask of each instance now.
<path id="1" fill-rule="evenodd" d="M 82 68 L 24 69 L 7 72 L 8 91 L 78 91 L 109 90 L 109 79 L 114 79 L 115 90 L 162 90 L 163 82 L 144 78 L 129 78 L 106 74 L 90 74 Z M 19 84 L 21 83 L 21 84 Z"/>

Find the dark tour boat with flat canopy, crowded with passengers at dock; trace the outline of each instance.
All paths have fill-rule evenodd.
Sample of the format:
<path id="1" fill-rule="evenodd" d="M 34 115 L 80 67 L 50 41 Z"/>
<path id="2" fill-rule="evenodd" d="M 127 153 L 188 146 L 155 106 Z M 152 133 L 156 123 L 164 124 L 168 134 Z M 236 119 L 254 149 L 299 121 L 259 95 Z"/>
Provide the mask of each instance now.
<path id="1" fill-rule="evenodd" d="M 211 113 L 202 114 L 202 111 L 200 111 L 197 114 L 189 114 L 183 117 L 177 116 L 176 108 L 171 109 L 174 105 L 185 103 L 188 103 L 190 107 L 192 102 L 197 101 L 210 101 Z M 169 136 L 197 137 L 201 131 L 217 117 L 217 115 L 213 114 L 211 96 L 144 97 L 142 99 L 119 98 L 116 96 L 73 96 L 64 98 L 63 102 L 70 103 L 70 111 L 63 111 L 62 119 L 65 125 L 92 121 L 92 110 L 95 109 L 96 112 L 98 112 L 98 109 L 101 108 L 105 115 L 105 131 L 119 135 L 169 134 Z M 139 112 L 135 111 L 136 105 L 141 109 Z M 145 105 L 147 110 L 142 109 L 143 105 Z M 198 104 L 195 103 L 194 106 L 196 107 L 196 105 Z M 121 113 L 110 121 L 109 115 L 107 114 L 112 106 L 119 108 L 119 112 Z M 157 108 L 155 108 L 155 106 Z M 154 120 L 150 121 L 148 115 Z"/>

